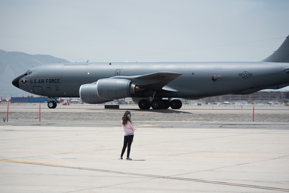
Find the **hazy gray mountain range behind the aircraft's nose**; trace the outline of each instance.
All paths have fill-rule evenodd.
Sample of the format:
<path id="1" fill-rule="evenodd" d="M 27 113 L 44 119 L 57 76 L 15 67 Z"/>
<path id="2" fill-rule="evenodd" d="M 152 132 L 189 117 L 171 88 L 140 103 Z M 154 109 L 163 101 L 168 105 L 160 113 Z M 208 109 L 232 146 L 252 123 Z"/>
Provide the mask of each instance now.
<path id="1" fill-rule="evenodd" d="M 20 90 L 12 85 L 12 80 L 32 67 L 42 64 L 69 62 L 51 55 L 30 55 L 23 52 L 6 52 L 0 50 L 0 95 L 1 99 L 31 96 L 32 94 Z M 35 95 L 37 96 L 37 95 Z"/>

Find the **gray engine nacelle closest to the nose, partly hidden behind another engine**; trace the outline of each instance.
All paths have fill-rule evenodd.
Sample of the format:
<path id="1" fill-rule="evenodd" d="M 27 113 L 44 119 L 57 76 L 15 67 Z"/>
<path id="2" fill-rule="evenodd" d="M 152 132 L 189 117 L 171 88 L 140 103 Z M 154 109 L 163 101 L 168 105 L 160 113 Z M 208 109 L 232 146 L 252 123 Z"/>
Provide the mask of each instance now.
<path id="1" fill-rule="evenodd" d="M 99 104 L 105 103 L 111 100 L 108 99 L 101 99 L 97 95 L 97 84 L 83 84 L 79 88 L 79 96 L 82 102 L 88 104 Z"/>

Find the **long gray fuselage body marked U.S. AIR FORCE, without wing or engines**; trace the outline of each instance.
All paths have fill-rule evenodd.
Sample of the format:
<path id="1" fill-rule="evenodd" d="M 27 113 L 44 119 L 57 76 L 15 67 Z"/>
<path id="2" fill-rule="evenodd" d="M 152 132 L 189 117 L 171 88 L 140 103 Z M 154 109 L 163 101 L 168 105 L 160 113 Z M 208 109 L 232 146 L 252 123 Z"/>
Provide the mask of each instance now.
<path id="1" fill-rule="evenodd" d="M 272 62 L 55 63 L 31 68 L 31 74 L 25 76 L 27 82 L 20 78 L 18 84 L 20 89 L 40 96 L 79 97 L 81 85 L 99 79 L 167 71 L 181 74 L 166 85 L 175 91 L 157 90 L 155 97 L 198 99 L 283 88 L 289 86 L 287 70 L 289 63 Z M 131 97 L 149 97 L 149 90 Z"/>

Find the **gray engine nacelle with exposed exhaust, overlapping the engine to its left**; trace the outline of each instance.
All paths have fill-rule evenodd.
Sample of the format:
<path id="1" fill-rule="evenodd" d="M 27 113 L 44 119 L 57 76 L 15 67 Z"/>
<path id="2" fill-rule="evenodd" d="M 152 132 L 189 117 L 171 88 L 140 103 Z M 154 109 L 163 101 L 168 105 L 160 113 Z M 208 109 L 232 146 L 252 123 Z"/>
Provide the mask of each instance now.
<path id="1" fill-rule="evenodd" d="M 138 88 L 130 80 L 117 78 L 99 79 L 96 84 L 98 96 L 107 100 L 130 97 Z"/>

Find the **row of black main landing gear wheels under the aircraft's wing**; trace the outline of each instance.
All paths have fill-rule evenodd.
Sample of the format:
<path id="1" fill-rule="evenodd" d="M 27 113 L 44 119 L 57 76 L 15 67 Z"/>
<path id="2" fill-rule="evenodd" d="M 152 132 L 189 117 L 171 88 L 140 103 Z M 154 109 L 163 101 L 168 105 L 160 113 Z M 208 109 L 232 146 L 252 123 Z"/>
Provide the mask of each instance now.
<path id="1" fill-rule="evenodd" d="M 168 107 L 171 107 L 172 109 L 180 109 L 182 106 L 182 103 L 178 99 L 174 99 L 172 101 L 167 99 L 153 99 L 152 101 L 147 99 L 142 99 L 138 102 L 138 107 L 140 109 L 168 109 Z"/>

